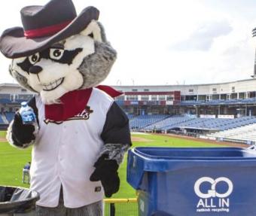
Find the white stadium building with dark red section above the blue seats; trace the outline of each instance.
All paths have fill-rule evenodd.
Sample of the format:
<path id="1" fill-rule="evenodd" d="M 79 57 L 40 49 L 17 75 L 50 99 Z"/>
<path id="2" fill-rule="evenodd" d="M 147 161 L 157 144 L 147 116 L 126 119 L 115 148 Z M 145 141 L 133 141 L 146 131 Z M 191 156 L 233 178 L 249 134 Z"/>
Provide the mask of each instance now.
<path id="1" fill-rule="evenodd" d="M 256 115 L 256 79 L 222 84 L 118 86 L 128 114 Z"/>

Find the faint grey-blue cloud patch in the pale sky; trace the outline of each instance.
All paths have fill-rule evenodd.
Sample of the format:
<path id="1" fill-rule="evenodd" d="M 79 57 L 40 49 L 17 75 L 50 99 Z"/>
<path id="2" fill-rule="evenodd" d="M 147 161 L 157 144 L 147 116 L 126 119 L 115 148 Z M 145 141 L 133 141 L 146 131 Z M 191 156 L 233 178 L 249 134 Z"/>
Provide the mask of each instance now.
<path id="1" fill-rule="evenodd" d="M 212 47 L 215 38 L 228 35 L 233 28 L 227 21 L 212 21 L 203 23 L 187 40 L 179 41 L 170 47 L 176 51 L 208 51 Z"/>

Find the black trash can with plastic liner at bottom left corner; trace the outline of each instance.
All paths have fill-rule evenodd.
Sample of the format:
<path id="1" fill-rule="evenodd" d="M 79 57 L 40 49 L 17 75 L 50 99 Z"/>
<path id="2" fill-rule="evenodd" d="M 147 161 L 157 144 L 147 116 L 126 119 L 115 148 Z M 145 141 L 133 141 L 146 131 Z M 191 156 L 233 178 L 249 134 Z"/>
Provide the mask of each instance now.
<path id="1" fill-rule="evenodd" d="M 27 213 L 35 208 L 39 193 L 23 187 L 0 186 L 0 214 Z"/>

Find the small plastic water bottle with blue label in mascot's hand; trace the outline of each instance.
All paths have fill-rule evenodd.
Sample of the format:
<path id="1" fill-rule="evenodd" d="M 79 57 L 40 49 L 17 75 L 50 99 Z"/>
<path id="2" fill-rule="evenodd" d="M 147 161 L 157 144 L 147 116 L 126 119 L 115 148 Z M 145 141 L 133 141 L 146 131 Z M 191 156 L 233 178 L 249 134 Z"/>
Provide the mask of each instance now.
<path id="1" fill-rule="evenodd" d="M 38 122 L 35 117 L 34 110 L 28 105 L 27 102 L 21 103 L 20 116 L 23 124 L 32 124 L 35 126 L 35 132 L 38 132 Z"/>

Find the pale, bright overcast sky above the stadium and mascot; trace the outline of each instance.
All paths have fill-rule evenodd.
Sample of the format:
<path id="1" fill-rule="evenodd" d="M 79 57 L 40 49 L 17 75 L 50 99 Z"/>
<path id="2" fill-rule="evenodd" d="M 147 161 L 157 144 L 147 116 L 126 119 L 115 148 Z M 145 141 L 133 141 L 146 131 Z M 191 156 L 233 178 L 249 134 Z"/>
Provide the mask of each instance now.
<path id="1" fill-rule="evenodd" d="M 48 0 L 8 0 L 0 32 L 22 26 L 20 9 Z M 77 13 L 99 9 L 117 50 L 108 85 L 212 84 L 251 78 L 256 27 L 254 0 L 73 0 Z M 0 84 L 15 83 L 0 56 Z"/>

